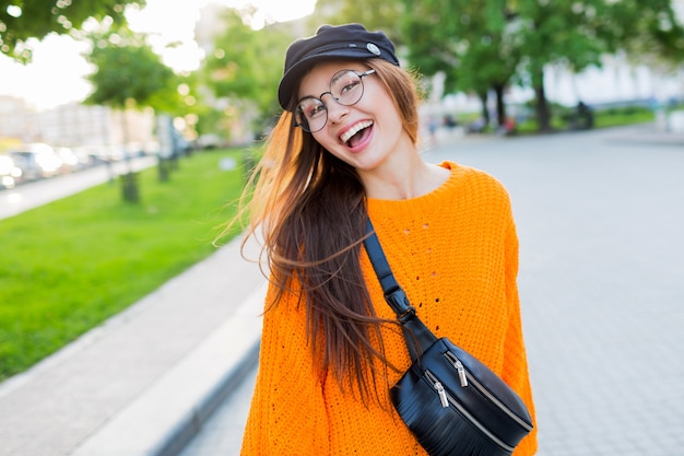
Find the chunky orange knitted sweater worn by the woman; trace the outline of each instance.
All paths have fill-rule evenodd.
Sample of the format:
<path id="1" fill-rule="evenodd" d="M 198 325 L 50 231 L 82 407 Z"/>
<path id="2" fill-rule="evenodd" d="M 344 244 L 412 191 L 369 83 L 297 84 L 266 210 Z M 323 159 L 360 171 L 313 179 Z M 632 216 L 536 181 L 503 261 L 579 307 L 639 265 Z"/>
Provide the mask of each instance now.
<path id="1" fill-rule="evenodd" d="M 409 200 L 369 199 L 368 213 L 397 281 L 426 326 L 500 375 L 534 419 L 508 194 L 483 172 L 451 162 L 441 165 L 451 176 L 436 190 Z M 376 313 L 394 318 L 363 252 Z M 267 302 L 274 293 L 269 290 Z M 377 383 L 380 401 L 364 406 L 357 394 L 341 393 L 331 372 L 316 372 L 305 327 L 304 306 L 297 307 L 292 294 L 264 314 L 241 455 L 426 456 L 394 412 L 384 379 Z M 406 369 L 411 361 L 401 332 L 384 329 L 382 340 L 388 360 Z M 388 376 L 391 385 L 401 373 L 389 371 Z M 535 451 L 536 429 L 514 455 Z"/>

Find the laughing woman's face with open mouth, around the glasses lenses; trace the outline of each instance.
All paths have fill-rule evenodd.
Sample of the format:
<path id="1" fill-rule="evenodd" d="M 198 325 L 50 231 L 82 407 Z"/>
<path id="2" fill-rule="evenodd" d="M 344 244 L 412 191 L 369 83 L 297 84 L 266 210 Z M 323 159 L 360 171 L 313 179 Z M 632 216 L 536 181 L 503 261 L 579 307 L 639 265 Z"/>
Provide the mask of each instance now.
<path id="1" fill-rule="evenodd" d="M 314 139 L 359 172 L 387 164 L 398 150 L 413 150 L 414 144 L 403 128 L 400 114 L 377 74 L 362 78 L 363 95 L 357 103 L 343 106 L 333 100 L 329 93 L 331 79 L 341 70 L 362 74 L 369 68 L 359 61 L 319 63 L 299 84 L 298 100 L 306 96 L 320 98 L 328 112 L 328 121 L 322 129 L 311 133 Z"/>

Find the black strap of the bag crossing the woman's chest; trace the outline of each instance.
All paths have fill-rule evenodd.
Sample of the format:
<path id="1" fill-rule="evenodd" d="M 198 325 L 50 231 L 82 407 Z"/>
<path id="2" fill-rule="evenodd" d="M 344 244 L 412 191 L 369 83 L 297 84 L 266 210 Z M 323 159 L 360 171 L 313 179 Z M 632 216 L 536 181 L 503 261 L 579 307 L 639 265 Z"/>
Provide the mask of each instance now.
<path id="1" fill-rule="evenodd" d="M 385 252 L 382 252 L 380 241 L 375 233 L 370 218 L 367 220 L 366 230 L 368 236 L 364 239 L 364 246 L 373 264 L 373 269 L 378 276 L 378 280 L 382 287 L 385 301 L 387 301 L 389 306 L 397 314 L 397 318 L 404 334 L 404 339 L 406 340 L 409 354 L 411 355 L 411 360 L 415 362 L 423 351 L 427 350 L 429 346 L 437 341 L 437 337 L 421 321 L 415 313 L 415 307 L 411 305 L 409 297 L 406 297 L 403 289 L 399 285 L 397 279 L 394 279 L 394 274 L 387 262 L 387 257 L 385 256 Z"/>

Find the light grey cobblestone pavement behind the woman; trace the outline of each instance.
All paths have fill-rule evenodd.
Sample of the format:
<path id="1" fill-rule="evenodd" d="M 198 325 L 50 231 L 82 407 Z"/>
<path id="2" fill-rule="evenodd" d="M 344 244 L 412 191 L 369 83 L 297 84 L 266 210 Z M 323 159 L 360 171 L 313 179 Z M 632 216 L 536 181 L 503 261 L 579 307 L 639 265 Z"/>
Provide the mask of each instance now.
<path id="1" fill-rule="evenodd" d="M 684 148 L 627 137 L 457 139 L 426 155 L 511 195 L 541 456 L 684 454 Z M 252 386 L 181 456 L 238 454 Z"/>

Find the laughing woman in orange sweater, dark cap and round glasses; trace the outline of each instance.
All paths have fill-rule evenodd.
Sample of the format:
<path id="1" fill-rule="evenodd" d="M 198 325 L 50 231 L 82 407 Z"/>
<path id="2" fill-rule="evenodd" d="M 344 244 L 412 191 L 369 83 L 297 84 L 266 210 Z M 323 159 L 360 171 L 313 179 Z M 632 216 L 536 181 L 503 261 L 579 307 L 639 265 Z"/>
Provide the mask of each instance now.
<path id="1" fill-rule="evenodd" d="M 278 96 L 249 208 L 271 280 L 241 454 L 426 454 L 389 401 L 411 360 L 362 247 L 367 215 L 423 321 L 533 412 L 508 196 L 422 160 L 416 86 L 392 43 L 322 26 L 288 48 Z M 535 448 L 532 432 L 515 454 Z"/>

